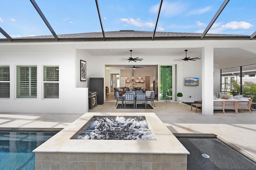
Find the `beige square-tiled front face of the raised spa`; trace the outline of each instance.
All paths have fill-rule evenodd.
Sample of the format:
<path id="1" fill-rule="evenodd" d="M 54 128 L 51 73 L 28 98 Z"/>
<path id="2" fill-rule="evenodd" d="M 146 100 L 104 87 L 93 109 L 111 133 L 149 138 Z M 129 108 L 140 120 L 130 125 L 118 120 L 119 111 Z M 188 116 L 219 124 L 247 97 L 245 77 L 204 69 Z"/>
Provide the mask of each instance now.
<path id="1" fill-rule="evenodd" d="M 36 170 L 186 170 L 186 154 L 36 152 Z"/>

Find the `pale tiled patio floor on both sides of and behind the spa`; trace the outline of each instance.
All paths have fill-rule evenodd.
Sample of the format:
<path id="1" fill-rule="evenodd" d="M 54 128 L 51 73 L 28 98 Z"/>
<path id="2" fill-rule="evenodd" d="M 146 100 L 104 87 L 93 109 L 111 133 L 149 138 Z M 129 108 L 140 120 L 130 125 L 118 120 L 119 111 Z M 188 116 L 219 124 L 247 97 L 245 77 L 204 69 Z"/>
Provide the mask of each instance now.
<path id="1" fill-rule="evenodd" d="M 119 102 L 120 103 L 120 102 Z M 202 115 L 184 103 L 155 102 L 154 109 L 116 109 L 116 101 L 105 101 L 89 112 L 154 112 L 172 133 L 216 134 L 256 161 L 256 111 L 214 111 Z M 151 104 L 151 103 L 150 103 Z M 0 114 L 0 130 L 56 129 L 60 130 L 82 114 Z"/>

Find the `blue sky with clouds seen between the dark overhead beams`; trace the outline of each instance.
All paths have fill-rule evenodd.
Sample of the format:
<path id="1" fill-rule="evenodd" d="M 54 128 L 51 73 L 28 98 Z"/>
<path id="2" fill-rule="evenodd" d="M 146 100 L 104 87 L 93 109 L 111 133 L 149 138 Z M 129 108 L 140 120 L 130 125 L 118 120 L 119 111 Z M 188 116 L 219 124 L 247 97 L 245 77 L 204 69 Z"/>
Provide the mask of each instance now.
<path id="1" fill-rule="evenodd" d="M 56 34 L 101 32 L 95 0 L 35 0 Z M 30 0 L 2 0 L 11 37 L 51 35 Z M 153 31 L 160 0 L 98 0 L 104 31 Z M 224 0 L 164 0 L 157 31 L 202 33 Z M 208 33 L 251 35 L 256 0 L 230 0 Z M 0 34 L 0 38 L 5 38 Z"/>

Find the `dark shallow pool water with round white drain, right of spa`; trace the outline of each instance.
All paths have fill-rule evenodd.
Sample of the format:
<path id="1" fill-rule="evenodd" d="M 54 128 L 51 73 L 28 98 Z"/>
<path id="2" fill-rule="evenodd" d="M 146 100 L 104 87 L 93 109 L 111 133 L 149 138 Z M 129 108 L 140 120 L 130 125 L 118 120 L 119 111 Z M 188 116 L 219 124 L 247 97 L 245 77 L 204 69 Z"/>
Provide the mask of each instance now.
<path id="1" fill-rule="evenodd" d="M 216 137 L 181 137 L 178 140 L 190 152 L 188 170 L 255 170 L 250 160 Z"/>

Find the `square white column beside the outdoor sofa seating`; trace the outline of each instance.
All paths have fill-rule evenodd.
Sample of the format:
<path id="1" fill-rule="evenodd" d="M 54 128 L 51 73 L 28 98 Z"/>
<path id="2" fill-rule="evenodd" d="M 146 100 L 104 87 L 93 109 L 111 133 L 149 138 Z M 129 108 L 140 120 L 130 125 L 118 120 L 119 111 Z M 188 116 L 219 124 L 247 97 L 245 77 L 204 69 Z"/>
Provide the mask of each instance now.
<path id="1" fill-rule="evenodd" d="M 213 115 L 213 47 L 202 48 L 202 114 Z"/>

